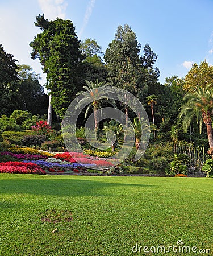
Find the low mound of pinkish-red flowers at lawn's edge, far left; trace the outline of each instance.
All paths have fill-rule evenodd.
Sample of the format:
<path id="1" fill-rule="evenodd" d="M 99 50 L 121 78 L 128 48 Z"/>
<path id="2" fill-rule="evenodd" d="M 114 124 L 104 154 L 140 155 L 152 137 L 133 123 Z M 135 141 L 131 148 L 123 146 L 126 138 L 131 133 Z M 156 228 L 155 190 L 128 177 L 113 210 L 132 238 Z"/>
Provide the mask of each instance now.
<path id="1" fill-rule="evenodd" d="M 0 163 L 0 172 L 10 174 L 46 174 L 46 172 L 35 163 L 4 162 Z"/>

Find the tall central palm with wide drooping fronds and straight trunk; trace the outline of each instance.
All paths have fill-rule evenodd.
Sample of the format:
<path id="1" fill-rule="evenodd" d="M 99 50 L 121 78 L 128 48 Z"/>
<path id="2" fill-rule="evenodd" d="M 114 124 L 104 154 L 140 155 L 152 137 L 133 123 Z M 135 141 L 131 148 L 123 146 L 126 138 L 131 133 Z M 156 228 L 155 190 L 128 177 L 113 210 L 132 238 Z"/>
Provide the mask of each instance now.
<path id="1" fill-rule="evenodd" d="M 101 108 L 101 105 L 103 103 L 103 99 L 106 99 L 108 103 L 110 103 L 112 106 L 115 106 L 114 101 L 110 100 L 108 96 L 112 92 L 110 87 L 107 87 L 106 82 L 98 82 L 98 79 L 95 82 L 87 81 L 87 86 L 83 86 L 83 89 L 87 91 L 85 94 L 85 91 L 80 91 L 76 95 L 83 95 L 83 98 L 78 102 L 76 105 L 76 108 L 80 108 L 82 105 L 87 105 L 87 109 L 85 112 L 85 118 L 87 117 L 87 114 L 89 113 L 90 108 L 93 108 L 94 111 L 94 122 L 95 122 L 95 135 L 97 139 L 99 139 L 99 112 L 98 109 Z"/>

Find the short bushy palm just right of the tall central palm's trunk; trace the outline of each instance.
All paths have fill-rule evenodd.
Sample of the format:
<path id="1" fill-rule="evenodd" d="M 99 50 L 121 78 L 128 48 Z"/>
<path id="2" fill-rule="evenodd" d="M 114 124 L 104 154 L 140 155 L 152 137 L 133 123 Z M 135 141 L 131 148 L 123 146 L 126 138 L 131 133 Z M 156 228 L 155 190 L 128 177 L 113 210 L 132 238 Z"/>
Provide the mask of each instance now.
<path id="1" fill-rule="evenodd" d="M 103 123 L 103 131 L 105 131 L 107 139 L 111 142 L 111 149 L 114 152 L 118 140 L 123 137 L 122 125 L 111 119 L 110 122 Z"/>

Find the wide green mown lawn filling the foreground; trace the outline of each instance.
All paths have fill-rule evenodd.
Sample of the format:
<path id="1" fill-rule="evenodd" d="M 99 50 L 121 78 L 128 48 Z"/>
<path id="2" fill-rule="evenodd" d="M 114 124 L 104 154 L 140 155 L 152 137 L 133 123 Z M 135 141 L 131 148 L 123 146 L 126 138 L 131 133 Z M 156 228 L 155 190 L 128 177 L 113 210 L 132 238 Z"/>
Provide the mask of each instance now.
<path id="1" fill-rule="evenodd" d="M 0 192 L 0 255 L 213 254 L 213 179 L 1 174 Z"/>

